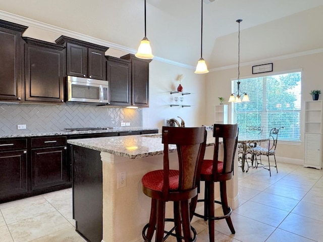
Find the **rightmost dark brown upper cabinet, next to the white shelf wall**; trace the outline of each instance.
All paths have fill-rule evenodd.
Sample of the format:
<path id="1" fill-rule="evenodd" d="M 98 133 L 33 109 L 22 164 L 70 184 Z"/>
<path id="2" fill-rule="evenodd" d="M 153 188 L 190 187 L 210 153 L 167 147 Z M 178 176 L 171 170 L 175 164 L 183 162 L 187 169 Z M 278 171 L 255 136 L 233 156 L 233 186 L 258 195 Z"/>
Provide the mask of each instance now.
<path id="1" fill-rule="evenodd" d="M 151 59 L 139 59 L 134 54 L 121 56 L 131 62 L 131 105 L 149 107 L 149 63 Z"/>

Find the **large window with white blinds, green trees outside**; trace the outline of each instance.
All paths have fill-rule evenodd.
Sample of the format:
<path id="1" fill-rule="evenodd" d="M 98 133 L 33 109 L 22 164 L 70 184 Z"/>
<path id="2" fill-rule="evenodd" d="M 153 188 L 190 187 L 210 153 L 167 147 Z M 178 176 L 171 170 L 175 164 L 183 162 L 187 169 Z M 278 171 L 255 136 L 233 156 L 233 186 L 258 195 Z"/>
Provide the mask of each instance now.
<path id="1" fill-rule="evenodd" d="M 250 101 L 232 103 L 232 123 L 239 125 L 239 134 L 244 134 L 247 126 L 264 126 L 264 134 L 283 126 L 280 140 L 300 141 L 301 72 L 243 79 L 240 83 L 240 90 L 248 93 Z M 231 89 L 237 90 L 236 80 Z"/>

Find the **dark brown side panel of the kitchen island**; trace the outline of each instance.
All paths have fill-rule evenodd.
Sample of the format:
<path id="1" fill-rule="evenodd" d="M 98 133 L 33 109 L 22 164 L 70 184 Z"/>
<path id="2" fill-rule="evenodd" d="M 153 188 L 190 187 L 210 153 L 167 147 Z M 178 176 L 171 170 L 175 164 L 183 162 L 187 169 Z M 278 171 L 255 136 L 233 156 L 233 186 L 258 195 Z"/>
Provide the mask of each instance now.
<path id="1" fill-rule="evenodd" d="M 100 152 L 72 146 L 73 217 L 76 231 L 91 242 L 102 240 L 102 161 Z"/>

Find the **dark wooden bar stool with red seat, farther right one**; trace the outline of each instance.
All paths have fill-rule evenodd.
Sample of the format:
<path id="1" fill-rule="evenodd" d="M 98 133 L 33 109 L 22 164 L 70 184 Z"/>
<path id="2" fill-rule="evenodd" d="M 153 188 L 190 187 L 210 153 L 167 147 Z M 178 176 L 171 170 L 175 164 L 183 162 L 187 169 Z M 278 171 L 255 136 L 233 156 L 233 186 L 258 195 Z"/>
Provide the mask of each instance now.
<path id="1" fill-rule="evenodd" d="M 227 180 L 233 175 L 234 156 L 236 153 L 238 142 L 238 125 L 219 125 L 213 126 L 214 152 L 213 160 L 203 160 L 201 168 L 201 181 L 205 183 L 204 199 L 192 199 L 191 218 L 193 215 L 208 220 L 209 241 L 214 241 L 214 220 L 226 219 L 232 233 L 235 233 L 231 213 L 232 209 L 228 205 L 227 199 Z M 219 140 L 223 140 L 223 161 L 219 161 Z M 214 201 L 214 183 L 220 182 L 220 201 Z M 197 202 L 204 203 L 204 214 L 194 212 Z M 214 203 L 221 204 L 224 215 L 214 216 Z"/>

